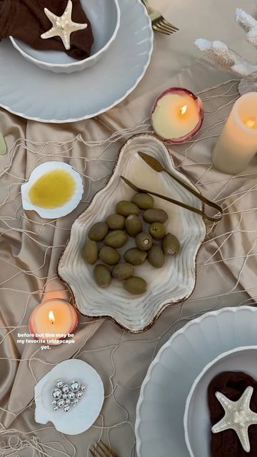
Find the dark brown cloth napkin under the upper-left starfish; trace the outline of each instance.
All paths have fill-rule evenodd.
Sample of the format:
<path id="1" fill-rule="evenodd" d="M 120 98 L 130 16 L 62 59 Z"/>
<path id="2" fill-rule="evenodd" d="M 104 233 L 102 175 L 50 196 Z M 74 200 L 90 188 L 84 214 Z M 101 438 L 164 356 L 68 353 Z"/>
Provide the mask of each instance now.
<path id="1" fill-rule="evenodd" d="M 80 0 L 72 0 L 71 18 L 74 22 L 88 24 L 88 27 L 71 34 L 69 51 L 66 51 L 59 36 L 41 39 L 41 34 L 52 26 L 44 13 L 44 8 L 49 9 L 56 16 L 62 16 L 67 4 L 68 0 L 0 0 L 0 40 L 7 36 L 14 36 L 34 49 L 65 51 L 74 59 L 86 59 L 90 56 L 94 37 Z"/>

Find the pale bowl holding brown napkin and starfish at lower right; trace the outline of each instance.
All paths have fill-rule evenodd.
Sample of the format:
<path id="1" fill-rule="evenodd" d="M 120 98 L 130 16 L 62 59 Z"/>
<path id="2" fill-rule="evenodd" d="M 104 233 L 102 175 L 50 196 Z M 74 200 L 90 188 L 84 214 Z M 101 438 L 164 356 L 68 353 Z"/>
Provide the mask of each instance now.
<path id="1" fill-rule="evenodd" d="M 207 392 L 212 379 L 223 371 L 243 371 L 257 379 L 257 346 L 244 346 L 221 353 L 203 368 L 193 382 L 183 418 L 186 446 L 191 457 L 211 457 Z"/>

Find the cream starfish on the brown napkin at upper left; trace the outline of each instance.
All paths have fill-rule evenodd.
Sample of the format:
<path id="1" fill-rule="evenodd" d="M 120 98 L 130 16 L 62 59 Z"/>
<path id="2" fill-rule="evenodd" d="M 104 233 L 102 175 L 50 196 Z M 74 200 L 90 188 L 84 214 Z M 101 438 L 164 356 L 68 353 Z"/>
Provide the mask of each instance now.
<path id="1" fill-rule="evenodd" d="M 52 28 L 41 35 L 41 38 L 46 40 L 53 36 L 59 36 L 64 43 L 65 49 L 71 49 L 71 34 L 74 31 L 86 29 L 88 24 L 78 24 L 71 20 L 72 14 L 72 1 L 69 0 L 66 6 L 66 10 L 62 16 L 56 16 L 51 13 L 49 9 L 45 8 L 44 12 L 53 24 Z"/>

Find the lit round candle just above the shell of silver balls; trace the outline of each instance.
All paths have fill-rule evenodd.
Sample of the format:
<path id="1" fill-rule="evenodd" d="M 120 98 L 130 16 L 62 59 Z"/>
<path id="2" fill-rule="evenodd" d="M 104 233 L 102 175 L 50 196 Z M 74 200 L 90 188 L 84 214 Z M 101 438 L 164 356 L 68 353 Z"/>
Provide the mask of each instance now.
<path id="1" fill-rule="evenodd" d="M 46 344 L 60 344 L 78 325 L 78 316 L 73 306 L 61 298 L 52 298 L 40 303 L 31 313 L 29 331 L 36 339 Z"/>

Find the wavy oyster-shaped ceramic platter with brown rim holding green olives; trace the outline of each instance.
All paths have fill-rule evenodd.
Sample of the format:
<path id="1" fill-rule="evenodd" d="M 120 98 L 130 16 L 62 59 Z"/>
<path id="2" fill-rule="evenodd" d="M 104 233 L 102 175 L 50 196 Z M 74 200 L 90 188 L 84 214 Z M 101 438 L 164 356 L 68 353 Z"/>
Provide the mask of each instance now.
<path id="1" fill-rule="evenodd" d="M 148 262 L 134 268 L 135 275 L 142 276 L 148 283 L 146 293 L 141 296 L 131 296 L 122 283 L 115 280 L 109 288 L 96 286 L 93 268 L 84 262 L 81 251 L 89 228 L 113 214 L 118 201 L 130 200 L 133 196 L 134 192 L 121 180 L 121 175 L 137 186 L 172 196 L 173 199 L 191 206 L 201 207 L 195 196 L 167 174 L 157 174 L 147 166 L 138 156 L 138 151 L 156 157 L 166 169 L 190 184 L 185 176 L 174 169 L 168 149 L 160 140 L 150 134 L 133 136 L 121 149 L 111 179 L 104 189 L 94 196 L 89 208 L 74 222 L 71 238 L 58 270 L 59 276 L 74 293 L 80 313 L 91 317 L 112 318 L 134 333 L 153 325 L 166 306 L 186 300 L 191 295 L 196 283 L 196 254 L 206 235 L 201 216 L 155 198 L 155 207 L 164 209 L 169 215 L 167 231 L 171 231 L 181 242 L 178 256 L 167 256 L 165 266 L 159 270 Z M 131 239 L 131 246 L 133 242 Z M 127 244 L 126 248 L 129 247 Z"/>

